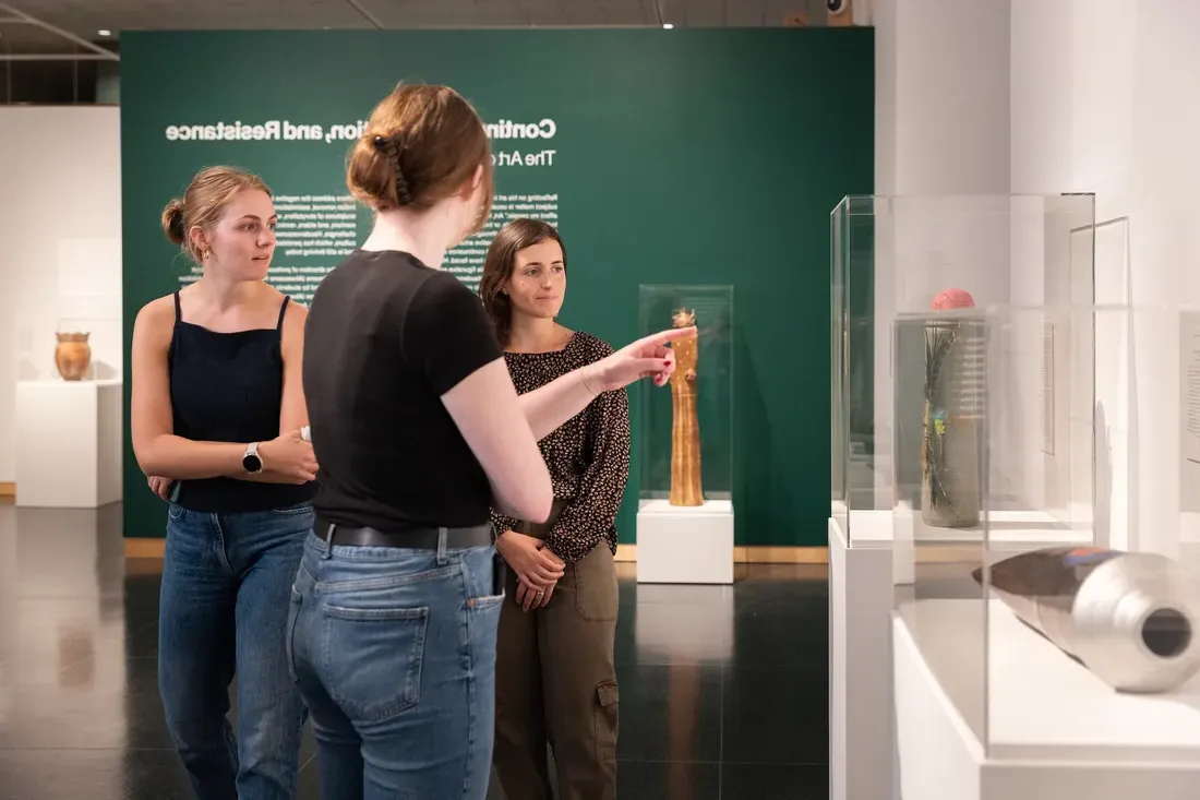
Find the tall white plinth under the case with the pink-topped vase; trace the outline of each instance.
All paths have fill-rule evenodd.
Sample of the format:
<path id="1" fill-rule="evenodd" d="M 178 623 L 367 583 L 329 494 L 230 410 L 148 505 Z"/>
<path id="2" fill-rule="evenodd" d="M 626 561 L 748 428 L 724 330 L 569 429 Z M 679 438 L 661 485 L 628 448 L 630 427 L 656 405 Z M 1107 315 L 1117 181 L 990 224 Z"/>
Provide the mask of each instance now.
<path id="1" fill-rule="evenodd" d="M 829 798 L 899 798 L 892 774 L 892 512 L 829 519 Z M 887 536 L 884 536 L 887 533 Z"/>

